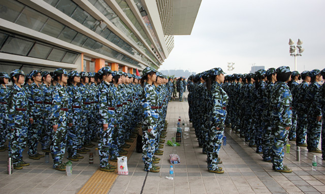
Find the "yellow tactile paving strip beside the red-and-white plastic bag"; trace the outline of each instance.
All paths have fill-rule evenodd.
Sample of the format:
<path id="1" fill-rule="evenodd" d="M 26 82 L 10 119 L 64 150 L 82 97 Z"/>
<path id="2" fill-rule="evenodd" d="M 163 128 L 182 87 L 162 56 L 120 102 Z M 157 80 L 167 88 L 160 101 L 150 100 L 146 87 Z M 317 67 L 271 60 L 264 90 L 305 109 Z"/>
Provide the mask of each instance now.
<path id="1" fill-rule="evenodd" d="M 129 158 L 132 152 L 135 150 L 137 145 L 137 139 L 134 139 L 133 143 L 128 143 L 131 145 L 127 150 L 126 156 Z M 117 166 L 117 162 L 110 161 L 110 164 Z M 112 187 L 115 179 L 117 178 L 117 169 L 114 172 L 104 172 L 101 170 L 97 170 L 86 182 L 86 184 L 79 190 L 78 194 L 100 194 L 100 193 L 108 193 L 110 188 Z"/>

